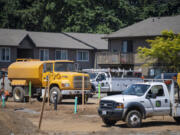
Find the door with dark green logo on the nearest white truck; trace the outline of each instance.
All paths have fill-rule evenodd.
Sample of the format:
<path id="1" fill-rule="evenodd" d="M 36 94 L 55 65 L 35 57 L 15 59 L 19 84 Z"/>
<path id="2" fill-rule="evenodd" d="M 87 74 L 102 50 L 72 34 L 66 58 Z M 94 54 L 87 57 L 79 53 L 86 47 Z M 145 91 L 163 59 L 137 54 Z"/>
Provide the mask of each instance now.
<path id="1" fill-rule="evenodd" d="M 167 94 L 167 93 L 166 93 Z M 153 115 L 170 114 L 170 101 L 162 85 L 154 85 L 148 92 L 149 102 L 151 104 Z"/>

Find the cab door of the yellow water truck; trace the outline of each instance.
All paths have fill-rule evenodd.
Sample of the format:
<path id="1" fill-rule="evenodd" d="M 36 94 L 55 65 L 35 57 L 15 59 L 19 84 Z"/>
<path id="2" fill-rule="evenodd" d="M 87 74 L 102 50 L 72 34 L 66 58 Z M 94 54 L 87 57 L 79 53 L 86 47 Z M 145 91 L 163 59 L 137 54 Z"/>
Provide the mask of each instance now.
<path id="1" fill-rule="evenodd" d="M 51 77 L 53 73 L 53 63 L 44 63 L 43 65 L 43 75 L 42 75 L 42 86 L 45 87 L 47 85 L 47 76 Z"/>

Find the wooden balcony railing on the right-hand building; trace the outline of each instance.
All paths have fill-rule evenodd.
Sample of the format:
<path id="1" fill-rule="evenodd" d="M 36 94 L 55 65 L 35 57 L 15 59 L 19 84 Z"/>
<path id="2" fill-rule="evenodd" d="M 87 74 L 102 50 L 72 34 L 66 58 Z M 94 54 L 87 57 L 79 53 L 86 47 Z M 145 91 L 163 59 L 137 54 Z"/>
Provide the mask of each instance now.
<path id="1" fill-rule="evenodd" d="M 133 53 L 97 52 L 97 64 L 134 64 Z"/>

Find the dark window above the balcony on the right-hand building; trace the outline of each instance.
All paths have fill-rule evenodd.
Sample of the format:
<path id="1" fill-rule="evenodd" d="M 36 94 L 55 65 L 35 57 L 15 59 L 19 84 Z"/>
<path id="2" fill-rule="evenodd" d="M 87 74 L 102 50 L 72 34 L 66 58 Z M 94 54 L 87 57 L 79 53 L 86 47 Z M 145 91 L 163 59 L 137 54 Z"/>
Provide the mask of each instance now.
<path id="1" fill-rule="evenodd" d="M 133 52 L 133 45 L 132 45 L 132 41 L 130 40 L 125 40 L 122 42 L 122 53 L 130 53 Z"/>

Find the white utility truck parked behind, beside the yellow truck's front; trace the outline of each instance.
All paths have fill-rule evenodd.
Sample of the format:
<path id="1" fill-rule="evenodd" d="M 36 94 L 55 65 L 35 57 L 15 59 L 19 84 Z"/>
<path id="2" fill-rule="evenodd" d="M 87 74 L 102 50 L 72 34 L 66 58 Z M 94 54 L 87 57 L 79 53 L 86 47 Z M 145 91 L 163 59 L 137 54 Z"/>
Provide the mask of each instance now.
<path id="1" fill-rule="evenodd" d="M 100 84 L 101 92 L 107 95 L 120 94 L 129 85 L 143 82 L 141 70 L 124 69 L 84 69 L 90 76 L 92 91 L 98 91 Z"/>

